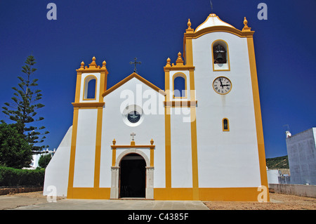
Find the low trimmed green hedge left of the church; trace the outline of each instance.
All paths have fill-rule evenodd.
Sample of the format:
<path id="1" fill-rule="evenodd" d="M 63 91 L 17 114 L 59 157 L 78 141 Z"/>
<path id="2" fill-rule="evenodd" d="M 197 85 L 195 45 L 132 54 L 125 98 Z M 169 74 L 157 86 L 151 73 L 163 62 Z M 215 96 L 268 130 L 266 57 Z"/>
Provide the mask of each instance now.
<path id="1" fill-rule="evenodd" d="M 45 169 L 27 170 L 0 166 L 0 186 L 42 186 Z"/>

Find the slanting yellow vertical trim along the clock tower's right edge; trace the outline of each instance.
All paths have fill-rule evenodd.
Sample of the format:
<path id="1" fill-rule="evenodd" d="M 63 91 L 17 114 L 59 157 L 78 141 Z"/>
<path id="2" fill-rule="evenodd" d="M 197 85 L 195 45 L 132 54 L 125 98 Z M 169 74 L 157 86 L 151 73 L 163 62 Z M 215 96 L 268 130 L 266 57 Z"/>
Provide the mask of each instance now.
<path id="1" fill-rule="evenodd" d="M 259 97 L 259 88 L 258 88 L 258 77 L 256 69 L 256 57 L 254 52 L 254 39 L 252 37 L 247 38 L 248 53 L 249 53 L 249 65 L 250 65 L 250 74 L 251 74 L 251 85 L 252 92 L 254 95 L 254 112 L 256 118 L 256 134 L 258 141 L 258 154 L 259 154 L 259 164 L 260 164 L 260 173 L 261 173 L 261 185 L 268 187 L 268 178 L 265 164 L 265 145 L 263 139 L 263 125 L 261 118 L 261 106 L 260 106 L 260 97 Z M 268 202 L 269 202 L 268 194 Z"/>

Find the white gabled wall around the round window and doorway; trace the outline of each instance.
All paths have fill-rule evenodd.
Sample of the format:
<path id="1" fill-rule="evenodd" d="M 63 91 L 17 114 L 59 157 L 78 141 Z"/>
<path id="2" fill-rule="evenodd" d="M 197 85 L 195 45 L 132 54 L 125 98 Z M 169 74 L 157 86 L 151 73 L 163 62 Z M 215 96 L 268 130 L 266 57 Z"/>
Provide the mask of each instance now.
<path id="1" fill-rule="evenodd" d="M 134 100 L 128 100 L 130 94 Z M 129 95 L 129 96 L 126 96 Z M 143 96 L 138 98 L 138 96 Z M 137 96 L 137 97 L 136 97 Z M 148 114 L 145 107 L 150 107 L 148 103 L 153 99 L 154 105 L 159 108 L 151 108 Z M 129 101 L 129 102 L 128 102 Z M 133 101 L 133 102 L 132 102 Z M 150 145 L 150 140 L 154 140 L 156 146 L 154 150 L 154 187 L 165 187 L 165 130 L 164 130 L 164 96 L 149 86 L 133 78 L 105 96 L 105 108 L 103 110 L 103 129 L 101 143 L 101 163 L 100 163 L 100 187 L 111 186 L 111 166 L 112 166 L 112 140 L 115 138 L 116 145 L 131 145 L 131 133 L 136 133 L 136 145 Z M 138 126 L 129 126 L 124 122 L 124 115 L 121 114 L 121 105 L 138 105 L 143 107 L 143 121 Z M 124 106 L 122 107 L 125 108 Z M 160 113 L 160 114 L 159 114 Z M 117 149 L 117 157 L 126 149 Z M 150 158 L 150 150 L 142 150 Z"/>

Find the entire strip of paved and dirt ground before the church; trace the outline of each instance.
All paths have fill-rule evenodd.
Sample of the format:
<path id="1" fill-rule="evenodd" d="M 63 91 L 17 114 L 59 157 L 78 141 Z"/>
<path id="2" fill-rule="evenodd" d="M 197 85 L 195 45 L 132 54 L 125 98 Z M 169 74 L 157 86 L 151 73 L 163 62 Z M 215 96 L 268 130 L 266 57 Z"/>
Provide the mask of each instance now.
<path id="1" fill-rule="evenodd" d="M 270 193 L 268 203 L 58 198 L 48 203 L 41 192 L 0 196 L 0 210 L 316 210 L 316 198 Z"/>

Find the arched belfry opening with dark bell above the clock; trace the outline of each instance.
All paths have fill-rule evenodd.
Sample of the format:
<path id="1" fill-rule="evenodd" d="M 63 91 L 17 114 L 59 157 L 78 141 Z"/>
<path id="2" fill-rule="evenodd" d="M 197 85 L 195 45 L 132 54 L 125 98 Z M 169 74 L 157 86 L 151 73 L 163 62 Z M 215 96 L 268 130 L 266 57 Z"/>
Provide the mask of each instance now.
<path id="1" fill-rule="evenodd" d="M 228 44 L 223 40 L 213 41 L 212 44 L 212 60 L 214 71 L 229 71 L 230 57 L 228 52 Z"/>

